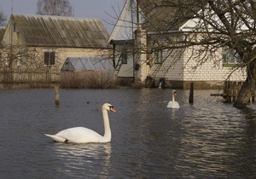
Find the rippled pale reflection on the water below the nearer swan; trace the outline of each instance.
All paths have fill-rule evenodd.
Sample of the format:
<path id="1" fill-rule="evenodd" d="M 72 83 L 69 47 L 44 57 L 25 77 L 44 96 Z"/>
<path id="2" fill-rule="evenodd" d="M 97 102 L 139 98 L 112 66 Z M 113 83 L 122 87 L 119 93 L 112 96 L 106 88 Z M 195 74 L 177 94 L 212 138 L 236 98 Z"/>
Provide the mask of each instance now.
<path id="1" fill-rule="evenodd" d="M 67 176 L 108 176 L 111 157 L 111 143 L 57 143 L 54 145 L 55 158 L 61 162 L 58 172 Z M 95 173 L 101 170 L 101 174 Z"/>

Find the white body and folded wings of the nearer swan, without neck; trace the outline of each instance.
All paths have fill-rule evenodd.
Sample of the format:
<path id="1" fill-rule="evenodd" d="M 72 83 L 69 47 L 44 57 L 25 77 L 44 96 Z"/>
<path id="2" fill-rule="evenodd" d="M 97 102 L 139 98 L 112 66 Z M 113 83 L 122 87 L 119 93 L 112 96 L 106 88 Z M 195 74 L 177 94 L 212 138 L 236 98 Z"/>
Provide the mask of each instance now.
<path id="1" fill-rule="evenodd" d="M 62 141 L 62 142 L 67 141 L 67 142 L 75 142 L 75 143 L 84 143 L 84 142 L 100 142 L 102 140 L 101 135 L 99 135 L 93 130 L 90 130 L 84 127 L 74 127 L 74 128 L 68 128 L 67 130 L 61 130 L 60 132 L 58 132 L 53 136 L 49 136 L 49 137 L 51 137 L 55 141 Z M 65 140 L 63 141 L 63 139 Z"/>

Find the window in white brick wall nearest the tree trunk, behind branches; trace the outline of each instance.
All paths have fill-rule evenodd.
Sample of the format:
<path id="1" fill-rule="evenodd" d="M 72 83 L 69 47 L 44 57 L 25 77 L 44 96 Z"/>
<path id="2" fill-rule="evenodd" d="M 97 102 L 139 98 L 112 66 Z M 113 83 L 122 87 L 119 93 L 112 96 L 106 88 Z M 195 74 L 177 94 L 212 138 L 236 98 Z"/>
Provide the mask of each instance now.
<path id="1" fill-rule="evenodd" d="M 224 65 L 226 64 L 237 64 L 241 62 L 239 55 L 236 53 L 235 49 L 229 47 L 224 47 L 222 49 L 222 57 Z"/>

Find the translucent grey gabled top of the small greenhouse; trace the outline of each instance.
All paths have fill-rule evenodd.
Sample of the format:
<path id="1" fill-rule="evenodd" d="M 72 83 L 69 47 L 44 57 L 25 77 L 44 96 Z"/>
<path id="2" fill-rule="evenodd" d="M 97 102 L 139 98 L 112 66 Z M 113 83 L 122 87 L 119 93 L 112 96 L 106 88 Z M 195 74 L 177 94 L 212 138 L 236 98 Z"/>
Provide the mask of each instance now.
<path id="1" fill-rule="evenodd" d="M 61 71 L 114 71 L 114 68 L 104 57 L 68 57 Z"/>

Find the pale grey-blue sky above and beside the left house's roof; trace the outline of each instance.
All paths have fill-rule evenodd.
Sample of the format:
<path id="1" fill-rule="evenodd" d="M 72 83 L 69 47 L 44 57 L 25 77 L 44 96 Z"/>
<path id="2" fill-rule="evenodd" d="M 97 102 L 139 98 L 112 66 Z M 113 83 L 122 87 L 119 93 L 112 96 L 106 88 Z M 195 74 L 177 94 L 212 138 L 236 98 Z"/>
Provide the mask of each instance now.
<path id="1" fill-rule="evenodd" d="M 73 6 L 75 17 L 98 18 L 110 33 L 116 22 L 116 13 L 123 8 L 125 0 L 69 0 L 69 2 Z M 0 8 L 9 20 L 12 7 L 13 14 L 36 14 L 37 3 L 38 0 L 0 0 Z"/>

